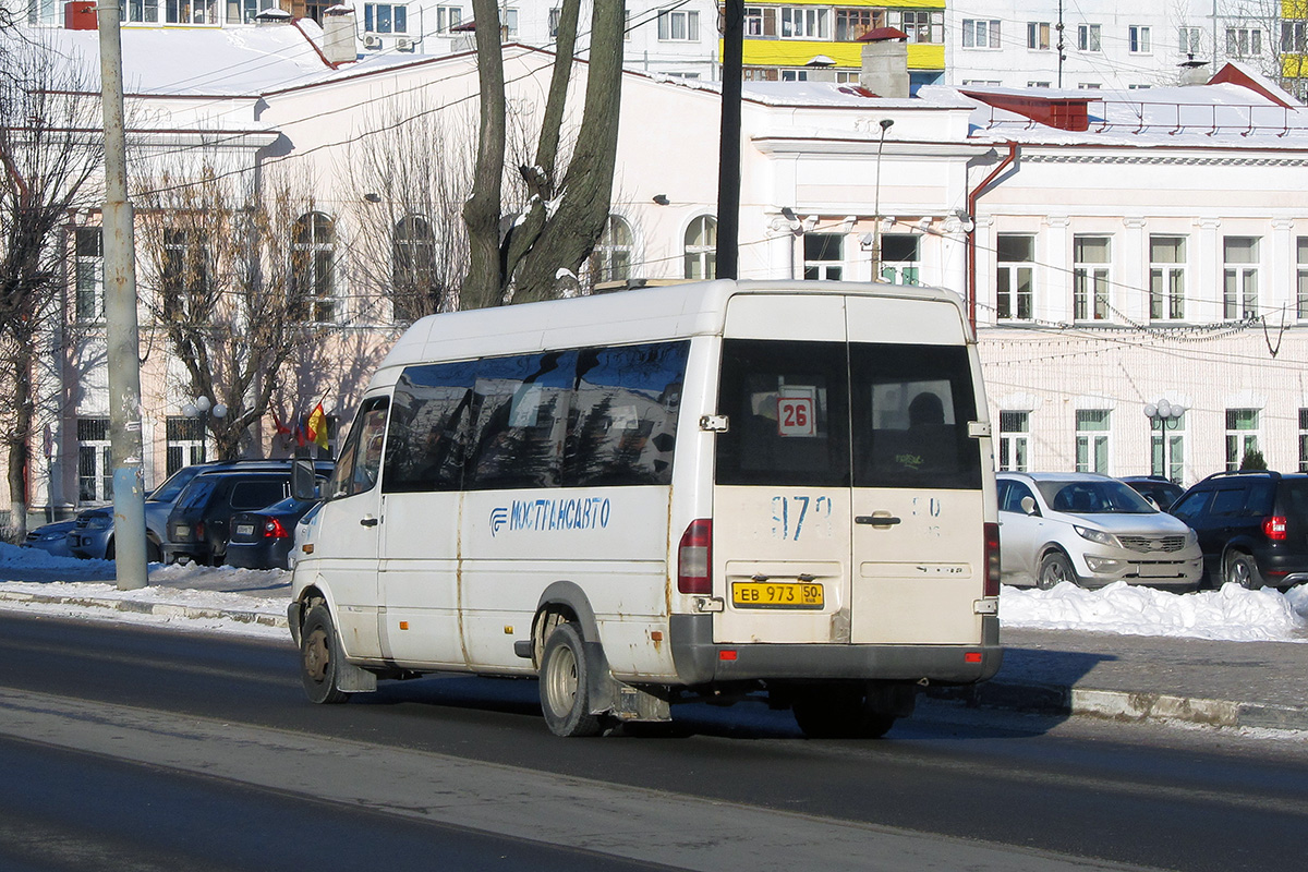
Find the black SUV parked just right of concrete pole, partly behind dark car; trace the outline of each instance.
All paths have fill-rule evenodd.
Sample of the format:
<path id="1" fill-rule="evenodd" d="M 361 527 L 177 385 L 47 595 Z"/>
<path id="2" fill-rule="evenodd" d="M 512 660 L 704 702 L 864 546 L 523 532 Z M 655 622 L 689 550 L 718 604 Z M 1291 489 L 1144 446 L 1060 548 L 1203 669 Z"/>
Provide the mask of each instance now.
<path id="1" fill-rule="evenodd" d="M 289 460 L 277 469 L 230 469 L 196 476 L 169 515 L 164 561 L 222 563 L 232 515 L 264 509 L 289 495 Z"/>

